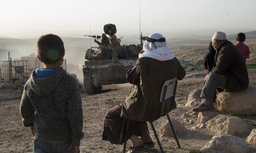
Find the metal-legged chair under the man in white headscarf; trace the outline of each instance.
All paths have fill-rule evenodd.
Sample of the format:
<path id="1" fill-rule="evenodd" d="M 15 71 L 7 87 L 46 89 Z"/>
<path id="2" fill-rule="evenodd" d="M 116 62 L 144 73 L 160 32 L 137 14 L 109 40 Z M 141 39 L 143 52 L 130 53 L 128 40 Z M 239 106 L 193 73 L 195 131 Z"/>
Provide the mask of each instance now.
<path id="1" fill-rule="evenodd" d="M 171 100 L 171 108 L 173 108 L 173 104 L 175 103 L 175 94 L 176 94 L 177 82 L 178 82 L 177 78 L 173 78 L 172 80 L 166 80 L 164 82 L 162 90 L 161 90 L 160 100 L 159 100 L 159 102 L 161 102 L 161 110 L 160 110 L 159 116 L 155 120 L 161 118 L 161 116 L 167 116 L 169 124 L 171 126 L 171 130 L 173 131 L 173 135 L 174 135 L 175 140 L 177 142 L 177 145 L 179 146 L 179 148 L 181 148 L 181 146 L 179 145 L 179 140 L 178 140 L 178 138 L 177 138 L 177 136 L 175 134 L 175 130 L 173 128 L 173 124 L 171 124 L 171 119 L 169 117 L 168 112 L 163 114 L 163 108 L 165 106 L 165 100 L 167 98 L 173 97 L 172 100 Z M 160 148 L 161 152 L 163 153 L 163 147 L 162 147 L 161 142 L 160 142 L 160 140 L 159 140 L 159 138 L 157 136 L 157 132 L 155 131 L 155 126 L 153 125 L 153 122 L 149 122 L 149 124 L 151 125 L 151 128 L 152 128 L 152 130 L 153 130 L 153 132 L 155 134 L 155 138 L 157 139 L 157 143 L 159 145 L 159 148 Z M 126 127 L 125 127 L 125 142 L 123 144 L 123 153 L 125 153 L 125 151 L 126 151 L 126 142 L 127 142 L 128 128 L 129 128 L 129 120 L 127 120 Z"/>

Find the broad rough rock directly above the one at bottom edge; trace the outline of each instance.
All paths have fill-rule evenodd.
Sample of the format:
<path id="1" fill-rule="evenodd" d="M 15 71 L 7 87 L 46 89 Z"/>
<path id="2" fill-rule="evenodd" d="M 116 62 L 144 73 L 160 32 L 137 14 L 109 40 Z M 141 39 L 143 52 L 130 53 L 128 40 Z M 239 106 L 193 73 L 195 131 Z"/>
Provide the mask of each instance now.
<path id="1" fill-rule="evenodd" d="M 242 118 L 227 114 L 219 114 L 205 124 L 207 124 L 207 129 L 215 134 L 226 133 L 238 135 L 251 132 L 249 124 Z"/>

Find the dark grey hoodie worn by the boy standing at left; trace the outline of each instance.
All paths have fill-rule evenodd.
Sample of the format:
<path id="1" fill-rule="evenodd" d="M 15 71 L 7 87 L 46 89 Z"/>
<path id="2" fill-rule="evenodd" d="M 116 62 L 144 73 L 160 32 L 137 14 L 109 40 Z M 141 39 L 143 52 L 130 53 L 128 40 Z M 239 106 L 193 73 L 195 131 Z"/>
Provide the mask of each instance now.
<path id="1" fill-rule="evenodd" d="M 73 146 L 80 146 L 83 138 L 80 90 L 75 78 L 62 67 L 47 78 L 37 78 L 33 71 L 24 86 L 20 111 L 23 126 L 34 128 L 39 138 L 71 138 Z"/>

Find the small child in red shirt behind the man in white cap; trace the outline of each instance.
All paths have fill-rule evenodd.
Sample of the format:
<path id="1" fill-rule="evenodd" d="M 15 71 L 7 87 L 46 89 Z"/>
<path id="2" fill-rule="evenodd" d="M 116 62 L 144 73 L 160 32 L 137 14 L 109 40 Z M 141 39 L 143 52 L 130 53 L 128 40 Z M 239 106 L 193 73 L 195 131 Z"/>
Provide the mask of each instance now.
<path id="1" fill-rule="evenodd" d="M 243 43 L 245 42 L 245 34 L 244 33 L 237 34 L 237 38 L 235 40 L 237 41 L 237 45 L 235 45 L 235 47 L 237 47 L 238 51 L 240 51 L 240 53 L 243 55 L 243 59 L 245 59 L 245 63 L 246 63 L 246 59 L 250 58 L 251 52 L 249 50 L 249 47 Z"/>

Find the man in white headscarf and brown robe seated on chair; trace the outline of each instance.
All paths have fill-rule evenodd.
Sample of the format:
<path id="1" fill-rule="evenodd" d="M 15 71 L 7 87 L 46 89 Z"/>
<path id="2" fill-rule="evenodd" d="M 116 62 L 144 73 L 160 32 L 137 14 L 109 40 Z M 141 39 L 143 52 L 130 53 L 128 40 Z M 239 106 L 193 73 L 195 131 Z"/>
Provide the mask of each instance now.
<path id="1" fill-rule="evenodd" d="M 163 35 L 149 35 L 137 63 L 127 72 L 127 80 L 134 84 L 129 96 L 123 104 L 118 104 L 105 114 L 103 140 L 123 144 L 125 118 L 128 118 L 128 138 L 133 142 L 133 152 L 143 152 L 145 148 L 153 147 L 146 121 L 153 121 L 159 116 L 159 98 L 165 80 L 181 80 L 184 76 L 185 69 L 169 50 Z M 172 108 L 166 106 L 166 112 L 167 109 Z"/>

